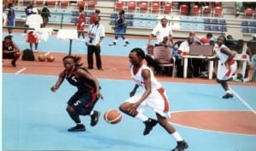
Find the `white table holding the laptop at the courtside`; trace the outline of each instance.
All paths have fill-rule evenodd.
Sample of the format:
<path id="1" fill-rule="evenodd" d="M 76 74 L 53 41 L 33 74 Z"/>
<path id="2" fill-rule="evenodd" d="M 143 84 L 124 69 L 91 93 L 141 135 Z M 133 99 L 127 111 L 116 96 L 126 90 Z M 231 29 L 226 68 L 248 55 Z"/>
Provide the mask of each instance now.
<path id="1" fill-rule="evenodd" d="M 182 55 L 182 58 L 184 60 L 183 65 L 183 78 L 187 78 L 188 75 L 188 60 L 189 59 L 213 59 L 215 57 L 207 57 L 207 56 L 191 56 L 191 55 Z M 209 79 L 212 79 L 212 71 L 213 71 L 213 61 L 209 60 L 209 65 L 208 65 L 208 72 L 209 72 Z"/>

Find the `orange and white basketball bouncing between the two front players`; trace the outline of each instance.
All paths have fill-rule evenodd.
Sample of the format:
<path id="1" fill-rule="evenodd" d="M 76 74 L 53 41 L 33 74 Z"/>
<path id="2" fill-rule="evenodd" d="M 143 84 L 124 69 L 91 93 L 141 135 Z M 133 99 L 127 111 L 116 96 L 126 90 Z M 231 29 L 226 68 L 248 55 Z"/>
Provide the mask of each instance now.
<path id="1" fill-rule="evenodd" d="M 118 109 L 108 109 L 104 114 L 104 120 L 110 124 L 116 124 L 122 120 L 122 115 Z"/>

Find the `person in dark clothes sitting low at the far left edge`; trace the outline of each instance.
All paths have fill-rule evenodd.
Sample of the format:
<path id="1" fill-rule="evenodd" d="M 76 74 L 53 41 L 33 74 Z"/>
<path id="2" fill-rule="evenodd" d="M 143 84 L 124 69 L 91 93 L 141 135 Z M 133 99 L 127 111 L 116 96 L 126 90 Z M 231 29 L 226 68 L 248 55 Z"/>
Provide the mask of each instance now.
<path id="1" fill-rule="evenodd" d="M 12 36 L 5 36 L 3 40 L 3 59 L 13 59 L 11 64 L 16 67 L 16 61 L 20 58 L 20 49 L 15 42 L 12 41 Z"/>

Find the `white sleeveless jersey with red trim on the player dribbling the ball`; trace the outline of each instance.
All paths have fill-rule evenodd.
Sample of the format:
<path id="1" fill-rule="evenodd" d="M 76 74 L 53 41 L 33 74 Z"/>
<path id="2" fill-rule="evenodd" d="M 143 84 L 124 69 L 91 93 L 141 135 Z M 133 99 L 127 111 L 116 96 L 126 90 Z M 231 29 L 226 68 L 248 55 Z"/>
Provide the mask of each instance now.
<path id="1" fill-rule="evenodd" d="M 140 87 L 143 87 L 145 89 L 145 83 L 142 76 L 143 70 L 149 70 L 150 71 L 150 81 L 151 81 L 151 89 L 156 90 L 159 89 L 161 86 L 160 82 L 156 80 L 154 77 L 153 71 L 145 64 L 141 66 L 141 68 L 137 71 L 136 74 L 133 73 L 133 65 L 131 65 L 131 78 L 136 82 L 136 84 Z"/>

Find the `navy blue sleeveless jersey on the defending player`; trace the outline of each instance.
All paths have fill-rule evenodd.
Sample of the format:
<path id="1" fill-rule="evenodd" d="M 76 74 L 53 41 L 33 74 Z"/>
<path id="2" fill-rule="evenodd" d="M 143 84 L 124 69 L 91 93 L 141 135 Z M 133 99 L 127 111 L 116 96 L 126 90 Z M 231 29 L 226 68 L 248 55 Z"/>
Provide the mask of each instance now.
<path id="1" fill-rule="evenodd" d="M 82 68 L 82 67 L 76 67 L 76 70 L 82 69 L 88 72 L 88 70 Z M 88 72 L 89 73 L 89 72 Z M 89 73 L 90 74 L 90 73 Z M 73 85 L 74 87 L 78 87 L 79 92 L 96 92 L 96 85 L 94 81 L 90 81 L 88 79 L 85 79 L 84 77 L 76 77 L 74 75 L 67 76 L 67 81 Z"/>

